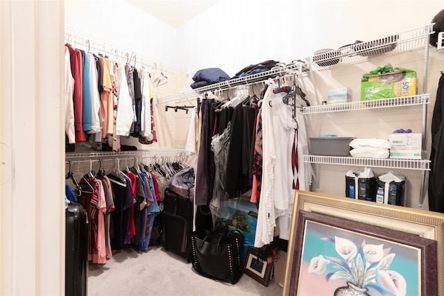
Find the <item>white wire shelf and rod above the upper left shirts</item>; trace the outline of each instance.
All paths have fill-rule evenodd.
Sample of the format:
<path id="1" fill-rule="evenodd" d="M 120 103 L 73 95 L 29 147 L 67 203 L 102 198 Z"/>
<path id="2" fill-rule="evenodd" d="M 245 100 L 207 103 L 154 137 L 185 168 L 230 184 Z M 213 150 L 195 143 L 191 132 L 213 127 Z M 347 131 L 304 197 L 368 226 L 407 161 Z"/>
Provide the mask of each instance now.
<path id="1" fill-rule="evenodd" d="M 77 29 L 69 26 L 65 26 L 65 43 L 69 43 L 71 46 L 78 49 L 83 49 L 85 51 L 95 51 L 94 53 L 108 55 L 108 58 L 112 60 L 117 59 L 123 63 L 127 62 L 127 60 L 128 62 L 132 61 L 133 64 L 137 63 L 144 67 L 150 67 L 153 70 L 159 71 L 159 73 L 162 71 L 167 71 L 169 73 L 186 73 L 184 69 L 173 67 L 164 62 L 155 62 L 155 60 L 160 59 L 147 57 L 146 55 L 142 55 L 141 53 L 132 49 L 113 44 L 112 42 L 109 42 L 108 40 L 105 40 L 99 36 L 78 31 Z M 127 53 L 128 56 L 126 55 Z"/>

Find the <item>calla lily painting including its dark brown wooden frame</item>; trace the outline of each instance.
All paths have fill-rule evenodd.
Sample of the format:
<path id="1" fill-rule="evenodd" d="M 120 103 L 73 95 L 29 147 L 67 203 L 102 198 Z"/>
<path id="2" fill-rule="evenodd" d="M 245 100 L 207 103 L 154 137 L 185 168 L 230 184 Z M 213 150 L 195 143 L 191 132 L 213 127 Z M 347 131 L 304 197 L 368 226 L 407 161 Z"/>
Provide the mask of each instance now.
<path id="1" fill-rule="evenodd" d="M 437 295 L 436 241 L 299 211 L 289 295 Z M 407 284 L 408 283 L 408 284 Z"/>

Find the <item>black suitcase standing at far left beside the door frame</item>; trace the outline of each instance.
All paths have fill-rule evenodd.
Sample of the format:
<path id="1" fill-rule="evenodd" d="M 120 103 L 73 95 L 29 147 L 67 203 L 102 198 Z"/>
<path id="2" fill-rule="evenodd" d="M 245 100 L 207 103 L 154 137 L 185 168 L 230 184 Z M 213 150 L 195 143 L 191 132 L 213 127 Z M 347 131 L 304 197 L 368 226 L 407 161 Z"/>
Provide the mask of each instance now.
<path id="1" fill-rule="evenodd" d="M 71 203 L 65 211 L 65 295 L 87 295 L 88 227 L 87 213 Z"/>

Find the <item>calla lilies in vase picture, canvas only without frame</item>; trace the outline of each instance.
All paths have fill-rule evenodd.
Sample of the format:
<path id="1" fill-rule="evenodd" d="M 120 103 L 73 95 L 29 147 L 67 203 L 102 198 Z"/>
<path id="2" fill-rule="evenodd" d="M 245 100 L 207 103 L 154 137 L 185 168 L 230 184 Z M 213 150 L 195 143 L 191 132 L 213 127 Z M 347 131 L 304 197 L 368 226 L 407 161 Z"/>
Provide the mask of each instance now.
<path id="1" fill-rule="evenodd" d="M 313 221 L 305 227 L 300 295 L 420 295 L 417 248 Z"/>

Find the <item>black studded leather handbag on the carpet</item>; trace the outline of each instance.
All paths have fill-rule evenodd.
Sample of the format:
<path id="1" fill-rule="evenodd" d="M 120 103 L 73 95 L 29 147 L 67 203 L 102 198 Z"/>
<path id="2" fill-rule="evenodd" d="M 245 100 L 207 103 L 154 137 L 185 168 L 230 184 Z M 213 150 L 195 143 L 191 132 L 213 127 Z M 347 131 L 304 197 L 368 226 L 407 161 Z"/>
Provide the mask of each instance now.
<path id="1" fill-rule="evenodd" d="M 241 248 L 244 236 L 239 230 L 216 230 L 191 236 L 191 263 L 204 277 L 236 284 L 243 272 Z"/>

